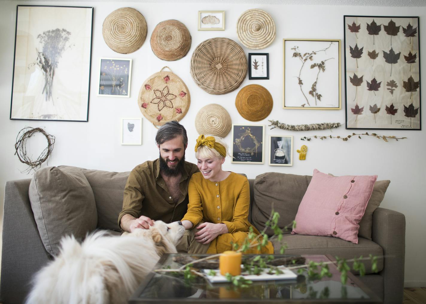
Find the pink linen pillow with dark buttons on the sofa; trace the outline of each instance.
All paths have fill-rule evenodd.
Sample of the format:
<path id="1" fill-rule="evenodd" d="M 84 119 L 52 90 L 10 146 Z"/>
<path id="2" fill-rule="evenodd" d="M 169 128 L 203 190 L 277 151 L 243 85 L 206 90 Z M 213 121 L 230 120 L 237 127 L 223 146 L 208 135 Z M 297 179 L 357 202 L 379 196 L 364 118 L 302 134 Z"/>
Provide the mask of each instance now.
<path id="1" fill-rule="evenodd" d="M 314 169 L 291 234 L 322 235 L 358 244 L 364 215 L 377 175 L 334 177 Z"/>

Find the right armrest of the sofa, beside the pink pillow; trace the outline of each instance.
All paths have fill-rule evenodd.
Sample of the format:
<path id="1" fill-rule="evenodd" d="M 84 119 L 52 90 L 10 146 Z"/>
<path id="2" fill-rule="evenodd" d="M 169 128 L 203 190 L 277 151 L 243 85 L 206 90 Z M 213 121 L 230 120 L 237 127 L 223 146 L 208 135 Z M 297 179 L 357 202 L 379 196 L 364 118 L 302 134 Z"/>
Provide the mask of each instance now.
<path id="1" fill-rule="evenodd" d="M 383 248 L 384 303 L 402 303 L 405 264 L 405 216 L 377 208 L 373 213 L 372 240 Z"/>

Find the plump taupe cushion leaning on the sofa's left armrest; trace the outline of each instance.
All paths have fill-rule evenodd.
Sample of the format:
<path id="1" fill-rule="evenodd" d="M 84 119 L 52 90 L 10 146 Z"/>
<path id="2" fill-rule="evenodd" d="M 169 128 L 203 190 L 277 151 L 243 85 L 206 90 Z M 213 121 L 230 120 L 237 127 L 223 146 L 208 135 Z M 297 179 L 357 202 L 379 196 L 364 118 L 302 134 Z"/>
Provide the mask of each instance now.
<path id="1" fill-rule="evenodd" d="M 81 240 L 96 228 L 95 197 L 79 169 L 39 169 L 30 182 L 28 194 L 40 238 L 51 255 L 58 255 L 64 235 Z"/>

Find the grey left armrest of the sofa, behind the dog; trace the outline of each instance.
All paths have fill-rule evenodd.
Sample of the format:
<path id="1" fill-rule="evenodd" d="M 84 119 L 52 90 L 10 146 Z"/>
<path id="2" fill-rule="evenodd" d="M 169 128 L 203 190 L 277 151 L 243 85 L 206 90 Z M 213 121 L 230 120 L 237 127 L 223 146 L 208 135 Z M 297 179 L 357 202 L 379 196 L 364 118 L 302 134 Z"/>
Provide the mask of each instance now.
<path id="1" fill-rule="evenodd" d="M 23 302 L 32 276 L 51 259 L 29 202 L 30 181 L 6 182 L 0 281 L 0 302 L 5 304 Z"/>

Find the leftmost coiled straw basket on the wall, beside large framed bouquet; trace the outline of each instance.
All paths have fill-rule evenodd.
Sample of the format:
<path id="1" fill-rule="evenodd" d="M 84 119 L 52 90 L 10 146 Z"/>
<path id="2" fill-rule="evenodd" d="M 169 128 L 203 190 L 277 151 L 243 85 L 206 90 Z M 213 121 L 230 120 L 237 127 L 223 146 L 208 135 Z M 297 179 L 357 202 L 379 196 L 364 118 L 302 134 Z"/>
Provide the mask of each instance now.
<path id="1" fill-rule="evenodd" d="M 129 54 L 137 51 L 147 37 L 147 22 L 142 14 L 130 7 L 116 9 L 102 25 L 105 43 L 115 52 Z"/>

